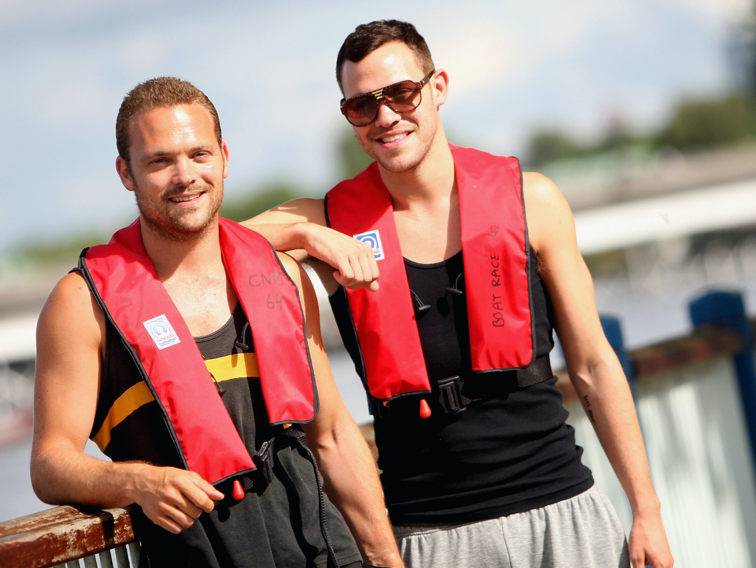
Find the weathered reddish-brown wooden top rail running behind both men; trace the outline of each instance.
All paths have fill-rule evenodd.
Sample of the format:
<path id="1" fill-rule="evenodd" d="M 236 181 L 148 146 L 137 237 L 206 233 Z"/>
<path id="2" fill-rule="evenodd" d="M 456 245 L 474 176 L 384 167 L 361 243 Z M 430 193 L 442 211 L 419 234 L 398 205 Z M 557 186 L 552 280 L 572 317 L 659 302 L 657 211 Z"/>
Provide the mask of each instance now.
<path id="1" fill-rule="evenodd" d="M 634 349 L 628 355 L 635 380 L 653 380 L 657 374 L 730 355 L 743 347 L 744 340 L 735 331 L 704 325 L 692 335 Z M 556 375 L 565 403 L 574 400 L 575 391 L 566 371 L 556 371 Z M 377 459 L 372 424 L 360 428 Z M 73 568 L 82 566 L 79 559 L 86 568 L 138 566 L 139 545 L 128 507 L 106 511 L 54 507 L 0 523 L 2 568 Z"/>

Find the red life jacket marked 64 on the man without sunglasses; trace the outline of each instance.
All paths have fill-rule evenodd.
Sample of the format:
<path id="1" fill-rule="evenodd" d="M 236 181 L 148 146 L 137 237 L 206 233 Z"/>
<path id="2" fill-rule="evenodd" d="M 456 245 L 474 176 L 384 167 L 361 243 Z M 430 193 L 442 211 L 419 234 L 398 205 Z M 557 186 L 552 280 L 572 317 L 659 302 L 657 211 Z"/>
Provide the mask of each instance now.
<path id="1" fill-rule="evenodd" d="M 260 234 L 228 219 L 218 224 L 271 424 L 309 422 L 318 397 L 296 285 Z M 84 250 L 79 269 L 160 405 L 185 467 L 210 483 L 256 469 L 189 327 L 157 278 L 139 220 L 110 243 Z"/>

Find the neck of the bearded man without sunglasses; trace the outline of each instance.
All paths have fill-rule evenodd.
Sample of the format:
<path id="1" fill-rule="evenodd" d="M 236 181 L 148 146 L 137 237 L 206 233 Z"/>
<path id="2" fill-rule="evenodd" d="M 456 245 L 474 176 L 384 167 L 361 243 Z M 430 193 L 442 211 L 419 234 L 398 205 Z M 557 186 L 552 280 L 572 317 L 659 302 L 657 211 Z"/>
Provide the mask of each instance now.
<path id="1" fill-rule="evenodd" d="M 159 234 L 144 219 L 141 219 L 141 236 L 144 250 L 155 265 L 160 281 L 165 282 L 174 275 L 186 272 L 223 269 L 217 216 L 205 231 L 187 241 L 176 241 Z"/>

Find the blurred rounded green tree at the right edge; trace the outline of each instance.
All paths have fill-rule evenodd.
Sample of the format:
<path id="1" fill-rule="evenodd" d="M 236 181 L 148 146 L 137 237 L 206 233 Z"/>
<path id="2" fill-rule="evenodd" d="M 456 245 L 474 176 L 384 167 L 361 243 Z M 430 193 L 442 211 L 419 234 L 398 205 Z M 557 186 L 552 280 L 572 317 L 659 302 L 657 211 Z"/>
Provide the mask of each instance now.
<path id="1" fill-rule="evenodd" d="M 756 136 L 756 104 L 741 94 L 680 102 L 670 122 L 659 132 L 658 146 L 695 150 Z"/>

